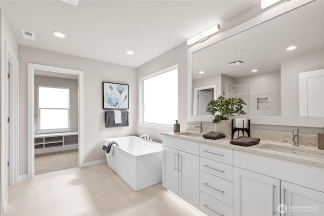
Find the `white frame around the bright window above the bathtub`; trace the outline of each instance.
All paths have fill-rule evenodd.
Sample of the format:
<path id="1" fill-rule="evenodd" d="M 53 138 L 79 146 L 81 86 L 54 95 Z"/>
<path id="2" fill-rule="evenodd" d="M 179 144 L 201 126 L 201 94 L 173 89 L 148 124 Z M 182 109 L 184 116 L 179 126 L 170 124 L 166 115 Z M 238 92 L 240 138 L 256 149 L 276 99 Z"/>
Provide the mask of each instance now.
<path id="1" fill-rule="evenodd" d="M 153 124 L 153 123 L 145 123 L 144 122 L 144 80 L 152 78 L 152 77 L 160 75 L 160 74 L 163 74 L 163 73 L 166 73 L 166 72 L 169 72 L 171 70 L 175 70 L 175 69 L 178 70 L 177 64 L 139 79 L 139 121 L 140 122 L 138 123 L 138 126 L 154 128 L 154 129 L 161 129 L 164 131 L 173 131 L 173 125 Z M 179 93 L 179 70 L 178 70 L 178 93 Z"/>

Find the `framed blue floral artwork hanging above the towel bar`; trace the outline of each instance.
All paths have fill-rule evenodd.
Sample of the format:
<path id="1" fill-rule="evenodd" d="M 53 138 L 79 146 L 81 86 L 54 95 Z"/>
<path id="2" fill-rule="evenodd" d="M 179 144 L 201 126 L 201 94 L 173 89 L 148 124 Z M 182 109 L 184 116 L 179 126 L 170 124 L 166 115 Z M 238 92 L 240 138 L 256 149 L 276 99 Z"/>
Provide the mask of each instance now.
<path id="1" fill-rule="evenodd" d="M 128 84 L 102 82 L 103 109 L 128 109 Z"/>

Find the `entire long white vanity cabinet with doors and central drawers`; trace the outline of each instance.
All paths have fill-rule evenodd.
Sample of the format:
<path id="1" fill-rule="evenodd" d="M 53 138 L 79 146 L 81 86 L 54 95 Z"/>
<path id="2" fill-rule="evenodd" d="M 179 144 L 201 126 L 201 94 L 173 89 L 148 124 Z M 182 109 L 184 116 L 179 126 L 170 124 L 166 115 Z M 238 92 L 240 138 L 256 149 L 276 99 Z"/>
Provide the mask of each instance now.
<path id="1" fill-rule="evenodd" d="M 323 167 L 179 137 L 163 136 L 163 187 L 207 215 L 324 215 Z"/>

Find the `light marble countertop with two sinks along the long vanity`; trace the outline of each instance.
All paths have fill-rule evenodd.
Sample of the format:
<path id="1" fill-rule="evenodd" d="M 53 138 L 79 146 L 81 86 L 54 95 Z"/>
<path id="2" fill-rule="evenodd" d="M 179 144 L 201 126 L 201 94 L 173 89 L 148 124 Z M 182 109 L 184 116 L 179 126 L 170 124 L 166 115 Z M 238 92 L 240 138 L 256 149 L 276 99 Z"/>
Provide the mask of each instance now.
<path id="1" fill-rule="evenodd" d="M 197 134 L 199 136 L 198 137 L 189 137 L 189 136 L 181 135 L 181 133 L 185 133 L 185 132 Z M 243 151 L 243 152 L 249 152 L 249 153 L 253 153 L 253 154 L 259 154 L 259 155 L 264 155 L 264 156 L 268 156 L 268 157 L 274 157 L 274 158 L 278 158 L 278 159 L 309 164 L 309 165 L 313 165 L 313 166 L 324 167 L 324 157 L 323 158 L 315 158 L 315 157 L 310 157 L 310 156 L 297 155 L 297 154 L 293 154 L 293 153 L 285 153 L 285 152 L 260 148 L 261 146 L 265 146 L 267 144 L 273 144 L 273 145 L 276 145 L 276 147 L 279 147 L 282 149 L 291 149 L 292 148 L 291 144 L 261 140 L 258 145 L 245 147 L 245 146 L 237 146 L 237 145 L 230 144 L 229 143 L 229 141 L 231 140 L 230 137 L 226 137 L 226 138 L 218 139 L 218 140 L 210 140 L 210 139 L 205 139 L 203 137 L 203 134 L 199 134 L 197 132 L 191 132 L 191 131 L 185 131 L 185 132 L 181 132 L 181 133 L 165 132 L 165 133 L 160 133 L 160 134 L 163 136 L 171 136 L 171 137 L 181 138 L 181 139 L 185 139 L 185 140 L 189 140 L 189 141 L 209 144 L 209 145 L 213 145 L 213 146 L 219 146 L 219 147 L 223 147 L 223 148 L 228 148 L 228 149 L 233 149 L 233 150 L 238 150 L 238 151 Z M 296 151 L 302 150 L 305 152 L 324 155 L 324 150 L 319 150 L 315 147 L 309 147 L 309 146 L 294 147 L 292 150 L 296 150 Z"/>

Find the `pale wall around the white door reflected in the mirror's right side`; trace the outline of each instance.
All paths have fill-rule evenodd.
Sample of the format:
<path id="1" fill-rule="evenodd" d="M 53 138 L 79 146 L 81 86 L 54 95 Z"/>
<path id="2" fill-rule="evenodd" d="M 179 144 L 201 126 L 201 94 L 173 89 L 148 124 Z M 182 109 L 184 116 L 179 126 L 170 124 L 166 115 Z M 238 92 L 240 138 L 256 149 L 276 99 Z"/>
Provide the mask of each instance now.
<path id="1" fill-rule="evenodd" d="M 282 116 L 299 116 L 298 74 L 323 68 L 324 50 L 281 61 Z"/>

